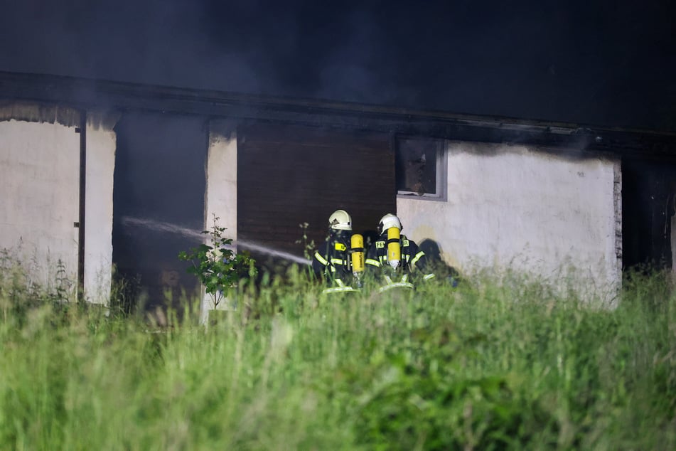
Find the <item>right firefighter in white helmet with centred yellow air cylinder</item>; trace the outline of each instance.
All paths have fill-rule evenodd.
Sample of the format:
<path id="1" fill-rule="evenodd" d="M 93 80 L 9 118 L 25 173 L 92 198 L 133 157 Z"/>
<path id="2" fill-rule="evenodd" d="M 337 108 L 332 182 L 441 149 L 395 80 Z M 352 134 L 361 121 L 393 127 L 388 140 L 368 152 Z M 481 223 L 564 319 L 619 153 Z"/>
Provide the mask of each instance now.
<path id="1" fill-rule="evenodd" d="M 412 279 L 430 280 L 428 259 L 414 240 L 401 234 L 402 222 L 392 213 L 380 219 L 380 237 L 366 253 L 366 266 L 375 277 L 384 279 L 380 292 L 394 287 L 413 288 Z"/>

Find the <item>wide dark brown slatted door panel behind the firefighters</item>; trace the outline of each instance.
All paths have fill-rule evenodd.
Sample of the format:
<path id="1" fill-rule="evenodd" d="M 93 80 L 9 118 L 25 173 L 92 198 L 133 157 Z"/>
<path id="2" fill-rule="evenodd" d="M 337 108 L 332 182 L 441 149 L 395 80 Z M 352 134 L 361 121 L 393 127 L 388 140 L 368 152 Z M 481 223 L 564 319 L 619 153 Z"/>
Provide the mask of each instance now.
<path id="1" fill-rule="evenodd" d="M 237 239 L 304 256 L 321 243 L 328 216 L 350 213 L 355 232 L 372 235 L 397 208 L 390 135 L 347 129 L 250 124 L 237 129 Z M 254 255 L 269 260 L 265 255 Z"/>

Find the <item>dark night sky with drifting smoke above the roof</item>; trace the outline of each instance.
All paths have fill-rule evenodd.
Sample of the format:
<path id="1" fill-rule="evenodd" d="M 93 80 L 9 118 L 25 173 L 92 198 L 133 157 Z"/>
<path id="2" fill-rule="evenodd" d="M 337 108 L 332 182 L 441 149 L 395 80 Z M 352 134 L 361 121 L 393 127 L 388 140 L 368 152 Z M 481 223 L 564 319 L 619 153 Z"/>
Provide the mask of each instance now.
<path id="1" fill-rule="evenodd" d="M 0 70 L 676 130 L 674 1 L 3 3 Z"/>

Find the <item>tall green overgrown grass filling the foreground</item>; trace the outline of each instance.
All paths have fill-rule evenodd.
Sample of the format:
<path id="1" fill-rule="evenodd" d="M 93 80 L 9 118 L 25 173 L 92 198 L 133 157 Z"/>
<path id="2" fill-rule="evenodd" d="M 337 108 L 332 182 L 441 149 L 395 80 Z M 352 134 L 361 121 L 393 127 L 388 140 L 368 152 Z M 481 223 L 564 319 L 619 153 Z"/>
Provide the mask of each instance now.
<path id="1" fill-rule="evenodd" d="M 153 327 L 0 285 L 2 450 L 674 450 L 676 295 L 242 293 Z M 247 306 L 247 308 L 245 308 Z"/>

